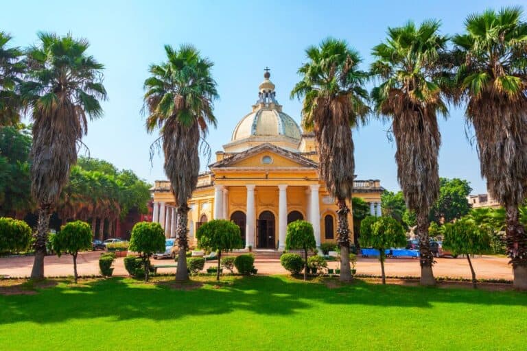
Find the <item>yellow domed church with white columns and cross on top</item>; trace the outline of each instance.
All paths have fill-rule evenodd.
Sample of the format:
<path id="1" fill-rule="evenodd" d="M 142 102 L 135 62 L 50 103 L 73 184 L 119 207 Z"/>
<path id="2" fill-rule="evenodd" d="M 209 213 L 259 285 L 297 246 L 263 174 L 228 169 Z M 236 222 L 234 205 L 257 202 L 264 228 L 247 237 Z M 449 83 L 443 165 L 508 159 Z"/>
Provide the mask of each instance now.
<path id="1" fill-rule="evenodd" d="M 210 219 L 230 219 L 246 247 L 285 246 L 287 225 L 297 219 L 313 224 L 316 245 L 336 241 L 336 199 L 318 174 L 318 155 L 312 133 L 303 133 L 282 111 L 270 73 L 259 85 L 258 100 L 234 128 L 231 141 L 216 152 L 207 173 L 200 174 L 189 200 L 189 243 Z M 354 197 L 381 214 L 379 180 L 355 180 Z M 175 237 L 176 207 L 167 180 L 156 180 L 152 221 L 161 223 L 167 237 Z M 349 204 L 351 208 L 351 204 Z M 350 230 L 353 218 L 349 215 Z M 353 238 L 353 235 L 351 235 Z"/>

